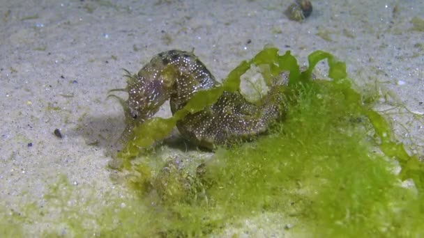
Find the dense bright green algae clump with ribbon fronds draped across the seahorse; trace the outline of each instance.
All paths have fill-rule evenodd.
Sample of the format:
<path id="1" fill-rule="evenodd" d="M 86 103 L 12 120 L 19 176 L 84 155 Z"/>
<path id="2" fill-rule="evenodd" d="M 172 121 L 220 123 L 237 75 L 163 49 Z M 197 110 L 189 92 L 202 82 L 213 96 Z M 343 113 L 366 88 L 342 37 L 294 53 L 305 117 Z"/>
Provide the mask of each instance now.
<path id="1" fill-rule="evenodd" d="M 332 80 L 312 80 L 313 68 L 324 59 Z M 365 99 L 352 88 L 345 63 L 324 51 L 310 54 L 308 61 L 308 70 L 301 72 L 289 51 L 280 56 L 278 49 L 264 49 L 230 72 L 221 88 L 200 92 L 173 118 L 153 118 L 143 130 L 136 127 L 135 134 L 142 139 L 129 143 L 120 154 L 127 162 L 137 156 L 139 148 L 167 136 L 179 118 L 213 104 L 223 90 L 238 90 L 240 76 L 250 65 L 267 65 L 270 75 L 264 73 L 266 80 L 290 71 L 289 86 L 282 90 L 287 118 L 269 136 L 218 150 L 201 164 L 204 173 L 185 175 L 190 182 L 181 180 L 181 172 L 171 173 L 171 179 L 168 173 L 151 173 L 145 163 L 126 167 L 142 171 L 131 182 L 142 184 L 136 188 L 143 196 L 167 194 L 165 199 L 158 198 L 174 216 L 158 221 L 171 224 L 163 226 L 160 234 L 219 233 L 225 224 L 239 219 L 287 211 L 315 234 L 421 234 L 417 221 L 423 219 L 419 205 L 423 200 L 422 162 L 395 140 L 387 120 L 372 109 L 370 97 Z M 146 138 L 149 141 L 142 143 Z M 400 175 L 393 172 L 396 163 Z M 407 179 L 414 181 L 418 193 L 400 186 Z M 158 186 L 158 180 L 169 182 L 169 187 Z M 193 190 L 202 196 L 192 196 Z M 170 194 L 174 196 L 169 198 Z"/>

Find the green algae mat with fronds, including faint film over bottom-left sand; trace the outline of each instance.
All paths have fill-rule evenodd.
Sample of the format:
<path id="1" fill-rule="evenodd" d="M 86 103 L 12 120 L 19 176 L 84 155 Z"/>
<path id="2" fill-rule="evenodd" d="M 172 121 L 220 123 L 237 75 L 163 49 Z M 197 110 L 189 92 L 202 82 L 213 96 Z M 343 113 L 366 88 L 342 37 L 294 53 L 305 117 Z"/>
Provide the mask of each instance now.
<path id="1" fill-rule="evenodd" d="M 312 80 L 313 68 L 324 59 L 331 80 Z M 50 209 L 65 211 L 56 219 L 55 229 L 66 228 L 65 236 L 75 237 L 220 237 L 237 235 L 226 230 L 245 220 L 285 214 L 286 219 L 273 221 L 285 225 L 285 230 L 273 232 L 423 236 L 422 162 L 409 156 L 386 118 L 373 110 L 372 99 L 377 97 L 365 97 L 352 88 L 345 63 L 324 51 L 310 54 L 308 61 L 308 70 L 301 72 L 289 52 L 279 55 L 277 49 L 264 49 L 233 70 L 222 88 L 199 93 L 177 116 L 153 118 L 149 127 L 139 125 L 142 129 L 135 133 L 142 140 L 131 141 L 119 154 L 126 164 L 123 170 L 130 174 L 125 177 L 129 192 L 135 196 L 105 195 L 106 207 L 87 212 L 101 201 L 91 198 L 70 206 L 77 189 L 62 179 L 45 195 Z M 190 160 L 190 154 L 176 159 L 153 149 L 140 155 L 140 148 L 165 138 L 179 117 L 212 104 L 222 90 L 238 90 L 240 76 L 251 64 L 268 65 L 264 79 L 290 71 L 289 84 L 282 90 L 284 122 L 257 141 L 220 148 L 211 159 L 195 160 L 190 166 L 177 162 Z M 398 166 L 401 172 L 395 173 Z M 402 187 L 404 180 L 415 186 Z M 20 231 L 19 222 L 10 221 L 8 216 L 0 222 L 2 231 L 13 225 L 10 233 L 3 234 Z M 268 227 L 268 221 L 262 223 Z"/>

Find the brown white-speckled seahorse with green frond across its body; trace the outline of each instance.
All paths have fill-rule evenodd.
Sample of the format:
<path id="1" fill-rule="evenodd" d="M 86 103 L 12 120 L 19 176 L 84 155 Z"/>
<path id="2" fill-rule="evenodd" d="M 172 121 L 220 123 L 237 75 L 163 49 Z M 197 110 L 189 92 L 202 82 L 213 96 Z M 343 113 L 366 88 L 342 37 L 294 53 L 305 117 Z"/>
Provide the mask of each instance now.
<path id="1" fill-rule="evenodd" d="M 199 90 L 220 86 L 199 58 L 188 51 L 164 51 L 138 74 L 127 73 L 128 100 L 121 100 L 127 124 L 151 118 L 167 100 L 174 114 Z M 176 127 L 188 141 L 210 150 L 217 145 L 252 140 L 282 118 L 279 86 L 287 80 L 288 73 L 274 79 L 268 94 L 255 103 L 248 102 L 240 92 L 224 91 L 215 104 L 188 114 Z"/>

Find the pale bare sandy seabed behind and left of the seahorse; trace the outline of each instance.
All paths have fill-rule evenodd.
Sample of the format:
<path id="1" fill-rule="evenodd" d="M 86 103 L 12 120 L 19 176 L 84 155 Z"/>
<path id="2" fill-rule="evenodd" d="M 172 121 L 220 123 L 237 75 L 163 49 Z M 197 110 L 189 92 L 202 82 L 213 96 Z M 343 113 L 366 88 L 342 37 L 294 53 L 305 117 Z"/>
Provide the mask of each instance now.
<path id="1" fill-rule="evenodd" d="M 126 86 L 121 68 L 137 72 L 168 49 L 194 48 L 217 79 L 264 45 L 291 50 L 301 64 L 322 49 L 345 61 L 358 84 L 382 82 L 408 109 L 424 113 L 424 33 L 411 31 L 410 23 L 424 18 L 424 1 L 313 1 L 303 23 L 283 14 L 291 1 L 28 2 L 0 3 L 4 211 L 48 206 L 43 194 L 59 174 L 99 197 L 125 191 L 114 187 L 107 169 L 124 127 L 121 106 L 105 100 L 107 91 Z M 399 126 L 398 132 L 419 143 L 423 128 L 409 120 L 396 117 L 410 134 Z M 63 138 L 54 136 L 56 128 Z M 54 226 L 49 219 L 32 224 L 34 234 Z"/>

